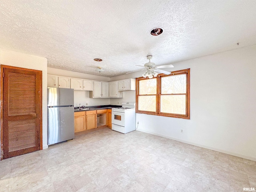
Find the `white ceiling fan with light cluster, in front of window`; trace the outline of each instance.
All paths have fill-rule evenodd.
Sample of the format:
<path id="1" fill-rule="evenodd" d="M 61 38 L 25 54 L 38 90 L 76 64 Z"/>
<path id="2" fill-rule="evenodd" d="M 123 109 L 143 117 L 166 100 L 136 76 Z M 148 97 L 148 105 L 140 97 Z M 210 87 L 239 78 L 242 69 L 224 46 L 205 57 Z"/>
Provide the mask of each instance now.
<path id="1" fill-rule="evenodd" d="M 173 65 L 169 64 L 169 65 L 160 65 L 160 66 L 156 66 L 155 63 L 153 62 L 150 62 L 150 60 L 152 59 L 152 56 L 149 55 L 147 56 L 147 59 L 149 60 L 148 63 L 145 63 L 144 66 L 142 65 L 136 65 L 136 66 L 140 66 L 140 67 L 144 67 L 146 69 L 141 69 L 141 70 L 137 70 L 137 71 L 142 71 L 142 70 L 146 70 L 146 72 L 144 74 L 142 74 L 142 76 L 144 78 L 148 77 L 148 78 L 153 78 L 156 77 L 159 73 L 164 73 L 166 75 L 169 75 L 171 72 L 168 72 L 168 71 L 164 71 L 164 70 L 161 70 L 159 68 L 171 68 L 171 67 L 174 67 Z M 132 71 L 132 72 L 136 72 L 136 71 Z M 128 73 L 132 73 L 132 72 L 128 72 Z M 126 74 L 128 74 L 126 73 Z"/>

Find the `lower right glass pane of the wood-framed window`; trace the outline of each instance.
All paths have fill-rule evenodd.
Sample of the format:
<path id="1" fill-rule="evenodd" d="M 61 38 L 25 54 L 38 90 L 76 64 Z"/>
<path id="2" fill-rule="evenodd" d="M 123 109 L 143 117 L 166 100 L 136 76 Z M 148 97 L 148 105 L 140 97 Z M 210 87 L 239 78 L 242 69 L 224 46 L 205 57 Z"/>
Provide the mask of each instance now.
<path id="1" fill-rule="evenodd" d="M 186 95 L 161 95 L 160 112 L 186 114 Z"/>

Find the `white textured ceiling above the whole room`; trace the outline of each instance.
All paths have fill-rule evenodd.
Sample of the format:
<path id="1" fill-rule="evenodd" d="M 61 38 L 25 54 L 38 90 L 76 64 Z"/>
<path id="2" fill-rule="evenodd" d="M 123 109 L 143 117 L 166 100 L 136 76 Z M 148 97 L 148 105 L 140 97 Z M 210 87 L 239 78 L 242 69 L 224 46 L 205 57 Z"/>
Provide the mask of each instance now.
<path id="1" fill-rule="evenodd" d="M 255 0 L 0 0 L 0 48 L 112 77 L 149 54 L 163 65 L 256 44 L 255 10 Z"/>

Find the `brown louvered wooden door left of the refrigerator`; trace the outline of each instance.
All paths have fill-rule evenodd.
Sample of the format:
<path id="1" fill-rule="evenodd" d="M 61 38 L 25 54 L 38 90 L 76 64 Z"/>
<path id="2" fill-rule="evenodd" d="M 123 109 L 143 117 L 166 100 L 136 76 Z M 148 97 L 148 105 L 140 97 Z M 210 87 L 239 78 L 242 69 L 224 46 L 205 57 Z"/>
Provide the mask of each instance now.
<path id="1" fill-rule="evenodd" d="M 40 150 L 42 72 L 3 72 L 3 158 Z"/>

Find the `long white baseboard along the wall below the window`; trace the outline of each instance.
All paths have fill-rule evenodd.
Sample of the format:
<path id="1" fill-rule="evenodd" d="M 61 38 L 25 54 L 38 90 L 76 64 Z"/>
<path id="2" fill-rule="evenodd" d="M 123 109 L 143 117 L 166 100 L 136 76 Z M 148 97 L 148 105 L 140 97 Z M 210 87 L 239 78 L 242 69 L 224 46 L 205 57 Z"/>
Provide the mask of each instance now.
<path id="1" fill-rule="evenodd" d="M 198 147 L 202 147 L 202 148 L 218 151 L 218 152 L 221 152 L 221 153 L 226 153 L 226 154 L 229 154 L 229 155 L 234 155 L 234 156 L 237 156 L 237 157 L 241 157 L 241 158 L 245 158 L 245 159 L 256 161 L 256 157 L 247 156 L 247 155 L 243 155 L 243 154 L 238 154 L 238 153 L 234 153 L 234 152 L 230 152 L 230 151 L 226 151 L 226 150 L 222 150 L 222 149 L 218 149 L 218 148 L 213 148 L 213 147 L 209 147 L 209 146 L 204 146 L 204 145 L 201 145 L 201 144 L 198 144 L 198 143 L 188 142 L 186 140 L 169 137 L 169 136 L 166 136 L 166 135 L 150 132 L 150 131 L 147 131 L 147 130 L 144 130 L 144 129 L 137 129 L 137 131 L 145 132 L 145 133 L 148 133 L 148 134 L 152 134 L 152 135 L 156 135 L 156 136 L 172 139 L 172 140 L 175 140 L 175 141 L 180 141 L 180 142 L 183 142 L 183 143 L 186 143 L 186 144 L 190 144 L 190 145 L 194 145 L 194 146 L 198 146 Z"/>

